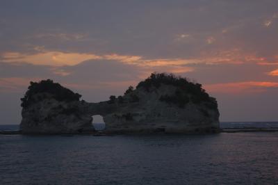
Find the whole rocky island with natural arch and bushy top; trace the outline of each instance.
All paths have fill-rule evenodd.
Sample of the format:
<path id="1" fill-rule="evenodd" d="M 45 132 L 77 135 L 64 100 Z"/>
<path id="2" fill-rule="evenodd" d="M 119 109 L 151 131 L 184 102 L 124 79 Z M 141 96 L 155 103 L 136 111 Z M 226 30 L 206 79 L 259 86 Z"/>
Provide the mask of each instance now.
<path id="1" fill-rule="evenodd" d="M 92 115 L 102 115 L 105 134 L 218 133 L 215 98 L 199 83 L 153 73 L 124 95 L 88 103 L 49 79 L 31 82 L 22 98 L 22 134 L 94 133 Z"/>

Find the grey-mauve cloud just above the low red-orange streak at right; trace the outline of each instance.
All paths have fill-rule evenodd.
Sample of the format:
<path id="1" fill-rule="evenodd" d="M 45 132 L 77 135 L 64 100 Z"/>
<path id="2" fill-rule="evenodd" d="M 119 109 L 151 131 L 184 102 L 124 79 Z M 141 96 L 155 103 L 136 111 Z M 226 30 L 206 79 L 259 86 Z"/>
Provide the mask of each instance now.
<path id="1" fill-rule="evenodd" d="M 183 77 L 195 79 L 202 84 L 233 83 L 235 81 L 277 81 L 267 75 L 273 65 L 250 63 L 197 63 L 186 65 L 193 71 L 181 73 Z"/>

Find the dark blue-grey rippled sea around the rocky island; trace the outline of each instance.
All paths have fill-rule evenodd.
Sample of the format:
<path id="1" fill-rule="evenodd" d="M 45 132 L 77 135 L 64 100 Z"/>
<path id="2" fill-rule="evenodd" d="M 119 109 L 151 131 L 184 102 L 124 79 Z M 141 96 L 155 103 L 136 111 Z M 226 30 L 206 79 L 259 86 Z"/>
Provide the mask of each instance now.
<path id="1" fill-rule="evenodd" d="M 0 184 L 278 184 L 278 132 L 0 135 Z"/>

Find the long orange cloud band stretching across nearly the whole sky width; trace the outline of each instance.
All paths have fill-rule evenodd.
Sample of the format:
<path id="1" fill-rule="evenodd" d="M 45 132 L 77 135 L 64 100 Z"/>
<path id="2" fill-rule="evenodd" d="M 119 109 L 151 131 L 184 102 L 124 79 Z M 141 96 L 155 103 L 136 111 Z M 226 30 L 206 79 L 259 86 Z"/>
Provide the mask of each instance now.
<path id="1" fill-rule="evenodd" d="M 188 64 L 206 63 L 215 65 L 219 63 L 258 63 L 266 65 L 268 61 L 265 58 L 256 57 L 255 54 L 242 54 L 240 49 L 231 49 L 229 51 L 220 51 L 217 54 L 202 53 L 196 58 L 144 58 L 143 56 L 131 56 L 120 54 L 90 54 L 62 51 L 47 51 L 44 47 L 35 47 L 37 54 L 22 54 L 19 52 L 6 52 L 0 55 L 1 60 L 7 63 L 31 63 L 33 65 L 51 65 L 54 67 L 64 65 L 78 65 L 88 60 L 115 60 L 129 65 L 138 65 L 140 67 L 181 67 Z M 185 71 L 186 70 L 186 71 Z M 176 72 L 177 69 L 175 70 Z M 183 72 L 188 69 L 183 67 Z M 169 70 L 169 72 L 174 72 Z M 180 71 L 181 72 L 181 71 Z M 55 72 L 56 74 L 67 75 L 65 72 Z"/>

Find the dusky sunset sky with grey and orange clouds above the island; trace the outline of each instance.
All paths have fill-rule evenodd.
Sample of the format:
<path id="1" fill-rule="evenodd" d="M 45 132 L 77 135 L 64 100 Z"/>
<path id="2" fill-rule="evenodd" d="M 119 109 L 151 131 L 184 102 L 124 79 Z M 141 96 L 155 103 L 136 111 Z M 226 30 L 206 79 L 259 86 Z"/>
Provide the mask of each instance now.
<path id="1" fill-rule="evenodd" d="M 220 121 L 278 121 L 278 1 L 0 2 L 0 124 L 30 81 L 99 102 L 152 72 L 202 83 Z"/>

